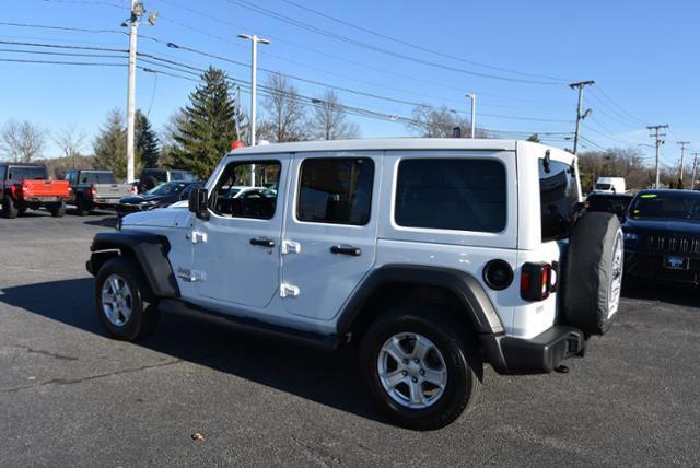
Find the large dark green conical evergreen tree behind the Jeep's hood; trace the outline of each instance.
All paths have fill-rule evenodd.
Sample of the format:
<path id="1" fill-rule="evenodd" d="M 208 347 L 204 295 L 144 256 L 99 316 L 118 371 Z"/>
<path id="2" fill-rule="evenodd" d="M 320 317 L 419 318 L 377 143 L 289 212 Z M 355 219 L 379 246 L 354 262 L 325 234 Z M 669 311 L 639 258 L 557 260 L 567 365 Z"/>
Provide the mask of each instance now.
<path id="1" fill-rule="evenodd" d="M 174 166 L 208 177 L 237 139 L 235 106 L 223 71 L 209 67 L 176 121 Z"/>

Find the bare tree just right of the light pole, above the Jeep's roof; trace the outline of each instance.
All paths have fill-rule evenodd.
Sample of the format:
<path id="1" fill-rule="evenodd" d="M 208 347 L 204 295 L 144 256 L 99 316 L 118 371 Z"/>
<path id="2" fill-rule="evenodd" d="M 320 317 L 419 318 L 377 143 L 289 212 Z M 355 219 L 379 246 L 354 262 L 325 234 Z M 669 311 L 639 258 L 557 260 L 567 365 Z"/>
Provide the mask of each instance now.
<path id="1" fill-rule="evenodd" d="M 296 87 L 281 74 L 270 74 L 266 87 L 260 137 L 276 143 L 305 140 L 306 109 Z"/>

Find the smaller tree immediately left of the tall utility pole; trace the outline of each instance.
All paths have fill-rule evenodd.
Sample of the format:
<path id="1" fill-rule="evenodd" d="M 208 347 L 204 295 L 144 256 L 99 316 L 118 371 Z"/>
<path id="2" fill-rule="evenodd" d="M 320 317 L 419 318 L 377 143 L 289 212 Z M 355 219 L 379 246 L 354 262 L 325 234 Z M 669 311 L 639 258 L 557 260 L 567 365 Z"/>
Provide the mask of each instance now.
<path id="1" fill-rule="evenodd" d="M 107 122 L 95 139 L 94 152 L 95 168 L 113 171 L 117 178 L 127 176 L 127 130 L 119 109 L 107 115 Z"/>

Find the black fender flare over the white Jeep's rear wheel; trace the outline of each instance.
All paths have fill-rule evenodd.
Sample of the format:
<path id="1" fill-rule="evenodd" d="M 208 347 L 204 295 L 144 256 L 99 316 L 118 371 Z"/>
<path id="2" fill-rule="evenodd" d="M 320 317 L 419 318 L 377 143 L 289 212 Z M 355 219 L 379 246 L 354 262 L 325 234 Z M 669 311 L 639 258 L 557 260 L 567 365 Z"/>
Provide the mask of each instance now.
<path id="1" fill-rule="evenodd" d="M 345 303 L 339 314 L 338 334 L 347 334 L 362 306 L 377 288 L 388 283 L 408 283 L 445 289 L 463 304 L 477 334 L 503 334 L 503 325 L 481 283 L 471 274 L 451 268 L 420 265 L 386 265 L 372 271 Z"/>

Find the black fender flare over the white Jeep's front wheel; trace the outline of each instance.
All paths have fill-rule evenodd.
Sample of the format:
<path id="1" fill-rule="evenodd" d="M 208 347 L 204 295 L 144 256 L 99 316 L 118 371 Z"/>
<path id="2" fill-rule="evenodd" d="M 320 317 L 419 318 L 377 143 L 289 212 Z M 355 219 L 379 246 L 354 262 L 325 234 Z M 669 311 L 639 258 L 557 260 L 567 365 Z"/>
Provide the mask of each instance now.
<path id="1" fill-rule="evenodd" d="M 102 265 L 115 255 L 129 253 L 141 267 L 156 297 L 178 297 L 179 289 L 167 259 L 167 237 L 143 232 L 104 232 L 95 234 L 90 250 L 88 271 L 96 276 Z"/>

